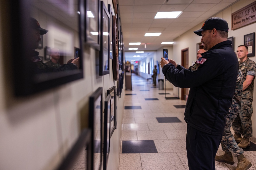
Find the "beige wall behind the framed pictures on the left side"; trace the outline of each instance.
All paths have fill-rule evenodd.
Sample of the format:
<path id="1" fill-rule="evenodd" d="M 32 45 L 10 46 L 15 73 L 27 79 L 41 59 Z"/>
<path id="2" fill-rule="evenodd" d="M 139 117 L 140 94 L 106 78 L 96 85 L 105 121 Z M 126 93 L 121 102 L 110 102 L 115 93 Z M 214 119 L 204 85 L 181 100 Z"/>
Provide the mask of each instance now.
<path id="1" fill-rule="evenodd" d="M 104 3 L 107 6 L 112 1 L 104 0 Z M 88 120 L 89 96 L 98 87 L 103 87 L 104 99 L 109 87 L 118 86 L 113 81 L 112 61 L 110 74 L 99 76 L 95 66 L 97 54 L 93 48 L 84 46 L 83 79 L 17 98 L 13 95 L 9 60 L 12 57 L 9 51 L 13 47 L 9 41 L 7 10 L 6 2 L 1 1 L 0 169 L 55 169 L 76 141 L 83 124 L 81 117 Z M 118 125 L 111 137 L 109 170 L 118 169 L 123 103 L 124 91 L 118 98 Z"/>

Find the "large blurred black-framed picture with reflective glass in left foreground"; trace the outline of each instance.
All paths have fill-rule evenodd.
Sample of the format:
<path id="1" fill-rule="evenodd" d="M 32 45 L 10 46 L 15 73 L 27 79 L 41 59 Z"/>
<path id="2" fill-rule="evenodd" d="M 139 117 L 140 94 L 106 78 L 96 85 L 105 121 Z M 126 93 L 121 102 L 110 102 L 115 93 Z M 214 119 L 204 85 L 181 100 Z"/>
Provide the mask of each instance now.
<path id="1" fill-rule="evenodd" d="M 81 1 L 67 1 L 65 5 L 50 0 L 8 2 L 11 6 L 11 41 L 15 47 L 11 55 L 16 96 L 31 95 L 83 78 L 82 55 L 77 62 L 80 67 L 68 62 L 73 59 L 75 44 L 82 50 L 81 17 L 77 13 L 82 6 Z M 47 10 L 48 6 L 51 10 Z M 44 63 L 50 59 L 49 50 L 40 48 L 41 38 L 34 34 L 44 35 L 47 41 L 42 42 L 42 46 L 59 49 L 63 61 L 61 68 L 51 68 Z M 46 56 L 46 60 L 42 61 L 39 56 Z"/>

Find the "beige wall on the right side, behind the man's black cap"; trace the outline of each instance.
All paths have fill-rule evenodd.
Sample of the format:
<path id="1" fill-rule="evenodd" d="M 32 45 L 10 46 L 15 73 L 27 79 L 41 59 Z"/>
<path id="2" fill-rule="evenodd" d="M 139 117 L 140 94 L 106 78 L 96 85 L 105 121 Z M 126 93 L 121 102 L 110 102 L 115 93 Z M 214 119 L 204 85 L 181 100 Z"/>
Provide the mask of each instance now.
<path id="1" fill-rule="evenodd" d="M 245 27 L 236 29 L 236 30 L 231 30 L 231 14 L 233 12 L 236 12 L 237 10 L 251 4 L 255 0 L 241 0 L 238 1 L 236 4 L 230 6 L 229 8 L 219 12 L 217 15 L 213 17 L 220 17 L 225 19 L 228 22 L 229 25 L 229 33 L 228 37 L 234 37 L 234 49 L 236 50 L 239 45 L 243 45 L 243 36 L 252 32 L 255 32 L 256 28 L 256 23 L 249 24 Z M 176 38 L 174 40 L 174 45 L 173 45 L 173 58 L 177 63 L 181 63 L 181 50 L 185 48 L 189 48 L 189 63 L 192 63 L 195 61 L 195 55 L 196 55 L 196 50 L 197 50 L 197 43 L 200 43 L 201 36 L 196 35 L 193 33 L 193 31 L 201 29 L 202 24 L 197 25 L 193 29 L 187 31 L 185 34 L 181 35 L 180 37 Z M 256 62 L 256 57 L 250 57 L 251 60 Z M 255 88 L 255 81 L 254 81 L 254 88 Z M 181 93 L 180 93 L 181 94 Z M 255 111 L 256 109 L 256 90 L 254 90 L 254 96 L 253 96 L 253 110 Z M 256 116 L 255 114 L 252 114 L 252 123 L 253 125 L 256 122 Z M 253 136 L 256 136 L 256 127 L 253 126 Z"/>

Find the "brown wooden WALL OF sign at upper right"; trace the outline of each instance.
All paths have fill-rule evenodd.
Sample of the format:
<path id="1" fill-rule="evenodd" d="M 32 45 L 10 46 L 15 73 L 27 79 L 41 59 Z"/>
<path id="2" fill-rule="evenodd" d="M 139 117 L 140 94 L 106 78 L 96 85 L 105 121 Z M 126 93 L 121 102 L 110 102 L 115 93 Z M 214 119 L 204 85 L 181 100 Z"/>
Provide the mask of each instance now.
<path id="1" fill-rule="evenodd" d="M 256 21 L 256 1 L 232 13 L 231 30 L 243 27 Z"/>

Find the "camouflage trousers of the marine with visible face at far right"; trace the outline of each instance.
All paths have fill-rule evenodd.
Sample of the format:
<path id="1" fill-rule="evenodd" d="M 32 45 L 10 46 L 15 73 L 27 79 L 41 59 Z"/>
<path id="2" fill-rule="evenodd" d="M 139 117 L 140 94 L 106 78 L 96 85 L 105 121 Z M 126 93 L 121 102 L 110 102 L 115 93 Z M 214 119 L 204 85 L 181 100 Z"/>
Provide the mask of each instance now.
<path id="1" fill-rule="evenodd" d="M 236 134 L 252 137 L 252 99 L 242 99 L 242 109 L 233 122 L 232 128 Z"/>

